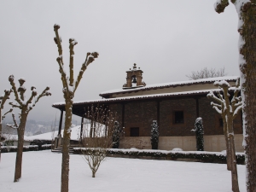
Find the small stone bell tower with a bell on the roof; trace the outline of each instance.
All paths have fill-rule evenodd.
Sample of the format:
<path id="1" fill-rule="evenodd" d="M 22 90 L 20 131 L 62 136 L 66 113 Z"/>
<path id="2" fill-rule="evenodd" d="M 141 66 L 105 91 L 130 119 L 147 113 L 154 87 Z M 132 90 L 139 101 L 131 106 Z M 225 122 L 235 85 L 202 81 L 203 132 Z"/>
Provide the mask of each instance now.
<path id="1" fill-rule="evenodd" d="M 126 73 L 126 84 L 123 85 L 124 90 L 146 86 L 145 82 L 143 82 L 143 70 L 141 70 L 140 67 L 137 69 L 136 63 L 134 63 L 132 69 L 130 68 L 130 71 Z M 136 85 L 132 86 L 132 84 Z"/>

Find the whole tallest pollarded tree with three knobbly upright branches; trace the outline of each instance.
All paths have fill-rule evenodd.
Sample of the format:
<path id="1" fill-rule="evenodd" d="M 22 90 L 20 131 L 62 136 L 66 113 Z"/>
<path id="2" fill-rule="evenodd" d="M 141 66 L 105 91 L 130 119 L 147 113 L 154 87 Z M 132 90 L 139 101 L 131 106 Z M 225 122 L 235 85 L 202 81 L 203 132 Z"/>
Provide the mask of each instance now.
<path id="1" fill-rule="evenodd" d="M 73 108 L 73 97 L 75 95 L 75 91 L 79 87 L 79 83 L 83 77 L 84 71 L 93 62 L 97 57 L 98 53 L 87 53 L 84 63 L 79 71 L 79 75 L 77 79 L 74 81 L 73 75 L 73 48 L 78 42 L 69 38 L 69 75 L 64 70 L 64 62 L 62 56 L 62 46 L 61 46 L 61 38 L 59 36 L 58 30 L 61 26 L 55 24 L 55 44 L 58 47 L 59 56 L 57 57 L 57 62 L 59 64 L 59 72 L 61 73 L 61 81 L 63 86 L 63 96 L 65 99 L 65 127 L 63 131 L 63 143 L 62 143 L 62 166 L 61 166 L 61 192 L 68 191 L 68 180 L 69 180 L 69 146 L 70 146 L 70 134 L 71 134 L 71 123 L 72 123 L 72 108 Z"/>

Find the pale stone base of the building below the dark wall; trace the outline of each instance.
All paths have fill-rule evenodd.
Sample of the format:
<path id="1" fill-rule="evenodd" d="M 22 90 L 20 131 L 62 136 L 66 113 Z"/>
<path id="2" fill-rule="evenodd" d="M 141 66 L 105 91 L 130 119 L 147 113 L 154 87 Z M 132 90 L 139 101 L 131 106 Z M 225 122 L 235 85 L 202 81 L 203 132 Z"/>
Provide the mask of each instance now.
<path id="1" fill-rule="evenodd" d="M 243 136 L 235 135 L 236 152 L 244 152 L 242 147 Z M 223 135 L 204 137 L 205 151 L 221 152 L 226 149 Z M 119 148 L 151 149 L 150 137 L 124 137 L 120 141 Z M 195 136 L 187 137 L 160 137 L 159 149 L 172 150 L 182 148 L 184 151 L 196 151 Z"/>

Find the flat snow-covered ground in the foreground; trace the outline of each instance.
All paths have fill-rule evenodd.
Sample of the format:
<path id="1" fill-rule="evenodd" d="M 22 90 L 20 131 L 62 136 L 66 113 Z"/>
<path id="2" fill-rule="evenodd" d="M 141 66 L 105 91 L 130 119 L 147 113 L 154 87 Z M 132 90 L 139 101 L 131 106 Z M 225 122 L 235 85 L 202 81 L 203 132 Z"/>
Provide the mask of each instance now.
<path id="1" fill-rule="evenodd" d="M 1 192 L 61 191 L 61 154 L 50 150 L 23 153 L 22 177 L 13 183 L 15 153 L 2 154 Z M 239 187 L 245 187 L 245 166 L 238 165 Z M 136 160 L 108 158 L 96 177 L 82 156 L 70 159 L 71 192 L 231 192 L 231 175 L 226 165 L 171 160 Z"/>

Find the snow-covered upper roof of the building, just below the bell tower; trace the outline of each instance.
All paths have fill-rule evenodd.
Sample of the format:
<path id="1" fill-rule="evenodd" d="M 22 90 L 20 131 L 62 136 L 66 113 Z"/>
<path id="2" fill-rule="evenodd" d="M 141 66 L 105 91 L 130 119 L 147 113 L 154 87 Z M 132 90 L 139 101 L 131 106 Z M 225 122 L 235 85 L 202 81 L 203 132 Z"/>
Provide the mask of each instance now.
<path id="1" fill-rule="evenodd" d="M 168 87 L 176 87 L 176 86 L 184 86 L 184 85 L 191 85 L 191 84 L 212 84 L 218 80 L 226 80 L 226 81 L 236 81 L 237 76 L 227 76 L 227 77 L 218 77 L 218 78 L 207 78 L 207 79 L 197 79 L 197 80 L 187 80 L 187 81 L 177 81 L 171 83 L 163 83 L 163 84 L 148 84 L 144 87 L 138 87 L 134 89 L 116 89 L 116 90 L 107 90 L 100 93 L 100 96 L 108 96 L 113 93 L 128 93 L 134 92 L 138 90 L 155 90 L 155 89 L 163 89 Z"/>

